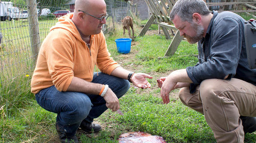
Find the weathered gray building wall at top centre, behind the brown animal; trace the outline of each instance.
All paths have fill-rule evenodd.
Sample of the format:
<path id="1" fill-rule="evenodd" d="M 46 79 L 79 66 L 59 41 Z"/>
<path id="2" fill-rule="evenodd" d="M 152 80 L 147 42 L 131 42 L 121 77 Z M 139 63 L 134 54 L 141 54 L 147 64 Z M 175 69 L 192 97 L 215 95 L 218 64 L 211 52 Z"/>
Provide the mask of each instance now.
<path id="1" fill-rule="evenodd" d="M 146 5 L 145 0 L 131 0 L 133 4 L 137 3 L 138 16 L 141 20 L 149 18 L 149 8 Z"/>

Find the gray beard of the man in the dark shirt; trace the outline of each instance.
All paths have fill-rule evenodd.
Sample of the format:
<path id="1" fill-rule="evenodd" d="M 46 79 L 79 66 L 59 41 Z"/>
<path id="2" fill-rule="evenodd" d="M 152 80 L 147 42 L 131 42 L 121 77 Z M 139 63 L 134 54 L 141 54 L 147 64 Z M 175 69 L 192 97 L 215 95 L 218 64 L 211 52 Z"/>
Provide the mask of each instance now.
<path id="1" fill-rule="evenodd" d="M 195 44 L 199 40 L 201 40 L 204 36 L 204 27 L 195 23 L 191 24 L 192 28 L 196 31 L 196 35 L 194 37 L 184 35 L 184 37 L 187 39 L 187 41 L 190 44 Z"/>

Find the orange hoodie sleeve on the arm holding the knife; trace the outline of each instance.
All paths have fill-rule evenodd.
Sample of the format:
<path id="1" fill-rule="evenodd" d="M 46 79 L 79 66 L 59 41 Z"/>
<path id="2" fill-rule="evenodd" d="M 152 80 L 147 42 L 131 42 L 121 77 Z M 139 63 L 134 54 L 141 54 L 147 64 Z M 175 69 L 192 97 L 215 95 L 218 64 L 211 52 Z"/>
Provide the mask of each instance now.
<path id="1" fill-rule="evenodd" d="M 48 46 L 46 51 L 46 62 L 52 82 L 58 91 L 67 91 L 73 79 L 73 45 L 68 33 L 52 30 L 50 41 L 45 43 Z M 58 36 L 61 35 L 61 36 Z M 65 37 L 66 38 L 56 38 Z"/>

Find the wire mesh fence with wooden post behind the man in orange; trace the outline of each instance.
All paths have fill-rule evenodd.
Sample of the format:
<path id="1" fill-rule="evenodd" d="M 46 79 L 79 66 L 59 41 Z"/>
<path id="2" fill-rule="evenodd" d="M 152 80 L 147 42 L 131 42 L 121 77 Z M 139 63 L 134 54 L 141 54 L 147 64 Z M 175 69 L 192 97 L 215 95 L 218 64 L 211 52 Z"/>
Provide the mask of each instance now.
<path id="1" fill-rule="evenodd" d="M 37 52 L 58 17 L 74 10 L 75 0 L 24 0 L 0 2 L 0 87 L 17 78 L 31 76 Z M 132 15 L 136 7 L 119 0 L 105 0 L 110 15 L 104 31 Z M 21 83 L 22 84 L 22 83 Z M 14 87 L 18 88 L 18 87 Z"/>

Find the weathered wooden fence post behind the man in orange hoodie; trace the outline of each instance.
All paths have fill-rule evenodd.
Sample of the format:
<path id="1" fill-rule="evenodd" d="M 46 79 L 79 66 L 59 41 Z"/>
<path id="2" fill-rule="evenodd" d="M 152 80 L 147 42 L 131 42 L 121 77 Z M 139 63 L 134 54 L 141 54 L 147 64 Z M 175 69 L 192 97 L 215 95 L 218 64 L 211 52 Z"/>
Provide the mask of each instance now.
<path id="1" fill-rule="evenodd" d="M 27 0 L 27 13 L 30 35 L 30 46 L 34 64 L 37 63 L 37 56 L 40 49 L 39 23 L 37 17 L 37 0 Z"/>

